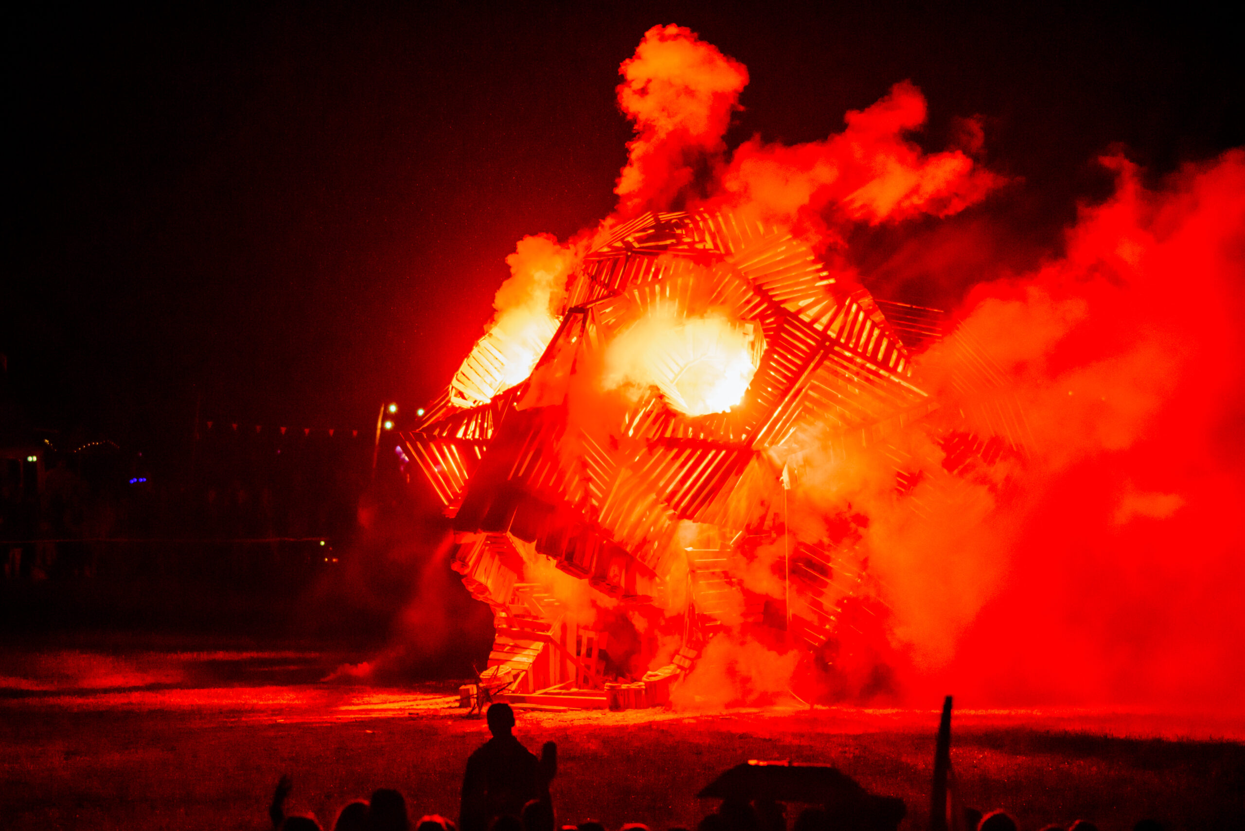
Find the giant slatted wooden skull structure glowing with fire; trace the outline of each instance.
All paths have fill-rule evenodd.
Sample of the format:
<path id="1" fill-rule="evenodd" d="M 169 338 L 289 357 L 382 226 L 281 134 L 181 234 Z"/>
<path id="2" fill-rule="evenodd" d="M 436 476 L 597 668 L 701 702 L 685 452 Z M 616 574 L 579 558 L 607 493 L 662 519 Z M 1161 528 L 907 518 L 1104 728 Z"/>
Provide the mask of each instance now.
<path id="1" fill-rule="evenodd" d="M 936 335 L 933 311 L 843 285 L 782 229 L 698 211 L 615 228 L 558 312 L 529 336 L 539 360 L 522 382 L 507 386 L 494 330 L 403 434 L 453 519 L 453 567 L 494 612 L 483 683 L 515 702 L 644 707 L 723 621 L 824 643 L 867 566 L 850 546 L 791 539 L 783 489 L 810 443 L 876 440 L 930 412 L 909 348 Z M 651 382 L 600 397 L 585 378 L 642 320 L 664 332 Z M 733 401 L 691 401 L 741 360 Z M 783 546 L 782 597 L 732 572 L 764 545 Z M 679 621 L 676 644 L 650 627 L 611 648 L 610 621 L 652 610 Z"/>

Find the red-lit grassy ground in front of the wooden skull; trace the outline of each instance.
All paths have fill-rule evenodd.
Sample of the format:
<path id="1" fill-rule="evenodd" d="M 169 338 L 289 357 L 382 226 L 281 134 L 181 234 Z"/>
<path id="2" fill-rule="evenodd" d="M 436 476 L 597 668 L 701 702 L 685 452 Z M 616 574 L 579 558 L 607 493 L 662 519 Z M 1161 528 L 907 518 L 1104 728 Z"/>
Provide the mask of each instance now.
<path id="1" fill-rule="evenodd" d="M 264 829 L 276 778 L 291 810 L 331 822 L 347 800 L 400 789 L 416 814 L 457 814 L 486 738 L 452 682 L 410 689 L 308 683 L 336 657 L 280 652 L 42 651 L 0 656 L 0 816 L 6 827 Z M 937 714 L 735 709 L 519 714 L 559 745 L 560 822 L 693 826 L 695 792 L 749 758 L 829 763 L 901 796 L 925 827 Z M 961 710 L 952 761 L 966 802 L 1026 829 L 1144 815 L 1213 829 L 1241 815 L 1245 719 L 1104 710 Z M 792 817 L 793 819 L 793 817 Z"/>

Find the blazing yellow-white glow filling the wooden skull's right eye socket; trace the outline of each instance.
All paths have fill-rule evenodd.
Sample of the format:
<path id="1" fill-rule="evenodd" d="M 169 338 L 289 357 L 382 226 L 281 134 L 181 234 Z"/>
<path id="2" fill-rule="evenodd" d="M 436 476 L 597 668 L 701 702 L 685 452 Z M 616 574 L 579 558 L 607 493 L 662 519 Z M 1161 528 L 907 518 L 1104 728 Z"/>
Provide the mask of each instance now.
<path id="1" fill-rule="evenodd" d="M 685 416 L 725 413 L 743 401 L 763 350 L 757 323 L 659 307 L 610 345 L 606 386 L 651 384 Z"/>

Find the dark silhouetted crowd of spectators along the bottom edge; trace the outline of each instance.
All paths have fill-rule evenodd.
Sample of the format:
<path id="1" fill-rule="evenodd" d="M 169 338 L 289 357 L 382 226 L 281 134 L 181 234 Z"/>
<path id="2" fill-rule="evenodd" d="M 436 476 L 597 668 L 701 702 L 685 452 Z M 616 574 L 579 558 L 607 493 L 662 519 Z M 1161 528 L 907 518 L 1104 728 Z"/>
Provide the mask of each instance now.
<path id="1" fill-rule="evenodd" d="M 557 825 L 549 784 L 558 773 L 558 748 L 547 741 L 540 756 L 535 756 L 514 736 L 514 710 L 509 704 L 498 703 L 486 714 L 488 741 L 467 760 L 463 774 L 462 801 L 458 822 L 439 815 L 426 814 L 411 821 L 403 796 L 382 787 L 369 800 L 355 800 L 344 806 L 332 825 L 332 831 L 609 831 L 603 824 L 589 820 L 579 825 Z M 293 789 L 290 778 L 281 776 L 273 794 L 269 819 L 275 831 L 325 831 L 309 815 L 286 815 L 285 800 Z M 788 826 L 786 807 L 772 800 L 726 799 L 713 812 L 706 815 L 695 831 L 894 831 L 899 819 L 808 807 L 799 812 Z M 1138 821 L 1133 831 L 1164 831 L 1167 826 L 1152 819 Z M 962 824 L 951 824 L 949 831 L 1020 831 L 1016 819 L 1005 810 L 982 814 L 965 807 Z M 627 822 L 619 831 L 650 831 L 642 822 Z M 690 831 L 671 826 L 662 831 Z M 1046 825 L 1040 831 L 1098 831 L 1089 820 L 1076 820 L 1071 825 Z"/>

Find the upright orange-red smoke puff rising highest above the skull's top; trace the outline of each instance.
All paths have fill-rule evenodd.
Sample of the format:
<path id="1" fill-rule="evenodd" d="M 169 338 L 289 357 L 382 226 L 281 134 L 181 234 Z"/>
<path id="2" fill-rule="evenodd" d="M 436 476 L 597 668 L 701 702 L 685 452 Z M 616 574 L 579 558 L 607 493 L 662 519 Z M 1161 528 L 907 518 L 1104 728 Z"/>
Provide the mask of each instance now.
<path id="1" fill-rule="evenodd" d="M 691 184 L 706 154 L 738 108 L 748 70 L 682 26 L 654 26 L 619 72 L 619 106 L 635 122 L 627 164 L 619 175 L 622 215 L 665 209 Z"/>

